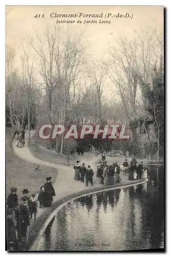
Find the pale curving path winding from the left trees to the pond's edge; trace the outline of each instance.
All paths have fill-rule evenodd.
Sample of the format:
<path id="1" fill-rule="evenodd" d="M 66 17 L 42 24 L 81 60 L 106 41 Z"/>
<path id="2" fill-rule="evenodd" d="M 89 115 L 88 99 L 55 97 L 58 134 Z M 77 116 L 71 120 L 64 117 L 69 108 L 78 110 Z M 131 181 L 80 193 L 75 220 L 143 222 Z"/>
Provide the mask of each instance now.
<path id="1" fill-rule="evenodd" d="M 82 183 L 80 181 L 75 181 L 74 180 L 74 169 L 72 166 L 66 166 L 66 165 L 61 165 L 61 164 L 56 164 L 56 163 L 51 163 L 51 162 L 47 162 L 47 161 L 42 161 L 39 160 L 37 158 L 35 158 L 32 153 L 29 151 L 29 147 L 27 145 L 27 141 L 24 147 L 22 148 L 17 148 L 15 146 L 15 142 L 12 143 L 12 148 L 13 148 L 13 152 L 14 154 L 16 154 L 18 157 L 24 159 L 25 161 L 31 162 L 31 163 L 36 163 L 39 165 L 45 165 L 45 166 L 50 166 L 50 167 L 54 167 L 58 169 L 58 174 L 57 177 L 53 183 L 53 187 L 55 189 L 55 193 L 56 196 L 53 197 L 53 203 L 61 200 L 64 197 L 69 197 L 72 194 L 75 193 L 79 193 L 80 191 L 82 192 L 83 190 L 86 190 L 87 187 L 85 187 L 85 183 Z M 47 152 L 47 154 L 50 154 L 49 152 Z M 103 186 L 101 184 L 97 183 L 97 178 L 96 178 L 96 166 L 95 166 L 95 162 L 96 160 L 99 158 L 99 156 L 95 157 L 94 155 L 91 156 L 90 153 L 86 153 L 84 156 L 78 156 L 78 159 L 81 162 L 85 162 L 86 165 L 90 164 L 91 167 L 94 170 L 94 186 L 89 186 L 88 190 L 92 190 L 94 188 L 97 188 L 97 190 L 100 187 L 100 190 L 103 188 Z M 47 177 L 48 177 L 48 168 L 47 168 Z M 28 181 L 29 184 L 30 181 Z M 44 180 L 44 183 L 46 182 L 46 180 Z M 122 183 L 122 184 L 120 184 Z M 121 182 L 119 183 L 120 185 L 128 185 L 128 183 L 131 183 L 131 181 L 128 181 L 128 176 L 125 175 L 121 175 Z M 135 182 L 133 182 L 135 183 Z M 134 185 L 134 184 L 133 184 Z M 48 216 L 50 215 L 50 208 L 38 208 L 38 212 L 37 212 L 37 218 L 39 218 L 41 216 L 41 218 L 43 219 L 46 215 L 45 218 L 48 218 Z M 45 219 L 44 219 L 45 221 Z M 33 219 L 31 220 L 31 226 L 29 226 L 28 229 L 28 236 L 33 236 L 33 232 L 35 232 L 34 226 L 36 226 L 36 222 Z"/>

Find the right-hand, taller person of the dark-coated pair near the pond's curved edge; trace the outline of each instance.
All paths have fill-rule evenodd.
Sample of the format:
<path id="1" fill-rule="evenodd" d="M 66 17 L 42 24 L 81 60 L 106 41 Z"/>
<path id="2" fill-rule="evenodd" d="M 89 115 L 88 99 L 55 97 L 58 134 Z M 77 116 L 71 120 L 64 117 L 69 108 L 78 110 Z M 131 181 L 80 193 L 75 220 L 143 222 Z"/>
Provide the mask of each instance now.
<path id="1" fill-rule="evenodd" d="M 52 206 L 52 197 L 55 195 L 55 190 L 52 186 L 52 183 L 50 181 L 50 178 L 46 178 L 46 183 L 44 184 L 44 203 L 45 207 Z"/>

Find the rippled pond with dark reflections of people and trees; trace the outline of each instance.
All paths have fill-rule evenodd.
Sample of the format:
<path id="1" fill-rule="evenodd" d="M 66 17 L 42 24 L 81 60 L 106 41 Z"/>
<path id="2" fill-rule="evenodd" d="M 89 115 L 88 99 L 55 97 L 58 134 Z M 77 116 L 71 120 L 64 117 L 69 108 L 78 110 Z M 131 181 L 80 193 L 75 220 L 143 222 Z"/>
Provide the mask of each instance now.
<path id="1" fill-rule="evenodd" d="M 142 185 L 80 197 L 62 207 L 37 250 L 138 250 L 164 247 L 163 168 Z M 152 182 L 154 181 L 154 182 Z"/>

